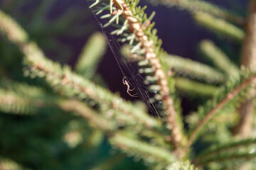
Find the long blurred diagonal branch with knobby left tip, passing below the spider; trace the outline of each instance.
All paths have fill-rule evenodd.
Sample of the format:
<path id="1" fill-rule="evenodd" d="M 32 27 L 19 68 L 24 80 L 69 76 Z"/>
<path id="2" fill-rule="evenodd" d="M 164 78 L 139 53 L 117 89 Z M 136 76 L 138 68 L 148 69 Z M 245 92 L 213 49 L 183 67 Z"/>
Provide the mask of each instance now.
<path id="1" fill-rule="evenodd" d="M 143 111 L 135 110 L 131 103 L 71 72 L 69 67 L 62 68 L 58 63 L 48 60 L 33 43 L 24 45 L 23 52 L 26 55 L 24 64 L 27 66 L 25 74 L 31 77 L 45 77 L 53 89 L 60 91 L 60 94 L 78 96 L 81 100 L 89 97 L 99 103 L 105 103 L 110 108 L 122 112 L 121 115 L 116 113 L 115 116 L 128 124 L 139 122 L 148 128 L 159 125 Z"/>

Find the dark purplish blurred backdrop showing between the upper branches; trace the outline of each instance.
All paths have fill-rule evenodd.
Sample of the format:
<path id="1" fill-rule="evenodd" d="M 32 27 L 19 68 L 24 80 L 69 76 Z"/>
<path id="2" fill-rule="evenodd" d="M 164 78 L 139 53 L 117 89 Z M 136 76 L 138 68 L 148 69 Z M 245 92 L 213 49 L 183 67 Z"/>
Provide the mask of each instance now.
<path id="1" fill-rule="evenodd" d="M 236 11 L 241 16 L 246 15 L 247 0 L 210 0 L 209 2 Z M 85 0 L 52 0 L 45 3 L 47 7 L 44 8 L 42 3 L 43 1 L 40 0 L 21 0 L 15 3 L 11 0 L 1 0 L 0 7 L 21 23 L 30 33 L 31 39 L 38 42 L 48 57 L 73 66 L 87 39 L 96 30 L 100 31 L 100 27 Z M 163 40 L 162 47 L 166 52 L 206 62 L 198 55 L 197 46 L 201 40 L 210 39 L 232 56 L 235 62 L 239 62 L 238 44 L 223 36 L 216 37 L 215 34 L 198 26 L 188 11 L 176 7 L 166 8 L 157 1 L 150 3 L 144 0 L 140 4 L 148 6 L 147 13 L 156 11 L 153 21 L 156 22 L 157 35 Z M 110 48 L 102 58 L 98 72 L 112 91 L 119 91 L 124 98 L 129 98 L 126 87 L 122 86 L 120 81 L 123 76 L 119 72 Z"/>

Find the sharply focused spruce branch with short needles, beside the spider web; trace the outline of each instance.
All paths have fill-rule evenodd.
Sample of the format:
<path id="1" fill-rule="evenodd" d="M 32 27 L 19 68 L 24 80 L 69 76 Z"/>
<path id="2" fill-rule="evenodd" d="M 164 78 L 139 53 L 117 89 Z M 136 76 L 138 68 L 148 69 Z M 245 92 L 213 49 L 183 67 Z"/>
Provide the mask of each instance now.
<path id="1" fill-rule="evenodd" d="M 114 30 L 112 34 L 120 35 L 124 34 L 122 42 L 128 41 L 130 45 L 135 44 L 131 52 L 134 55 L 143 56 L 144 60 L 149 62 L 152 74 L 156 78 L 156 84 L 160 87 L 158 96 L 161 97 L 164 113 L 166 115 L 166 127 L 170 129 L 172 142 L 176 146 L 180 146 L 183 140 L 183 125 L 181 121 L 178 121 L 176 108 L 174 106 L 174 99 L 170 96 L 170 84 L 166 77 L 168 72 L 167 67 L 163 66 L 161 56 L 161 40 L 156 37 L 156 30 L 152 30 L 154 24 L 150 24 L 151 18 L 154 13 L 146 17 L 144 13 L 145 8 L 137 7 L 139 1 L 124 1 L 113 0 L 110 1 L 110 5 L 101 4 L 102 1 L 95 1 L 90 7 L 97 6 L 95 12 L 100 14 L 107 6 L 110 6 L 110 13 L 107 13 L 101 18 L 110 18 L 109 22 L 104 27 L 114 25 L 114 21 L 117 23 L 117 30 Z M 102 6 L 100 6 L 102 5 Z M 113 11 L 112 11 L 113 10 Z M 119 19 L 119 16 L 122 18 Z M 118 29 L 119 21 L 123 22 L 123 26 Z M 146 74 L 146 72 L 145 72 Z M 173 90 L 173 89 L 172 89 Z"/>

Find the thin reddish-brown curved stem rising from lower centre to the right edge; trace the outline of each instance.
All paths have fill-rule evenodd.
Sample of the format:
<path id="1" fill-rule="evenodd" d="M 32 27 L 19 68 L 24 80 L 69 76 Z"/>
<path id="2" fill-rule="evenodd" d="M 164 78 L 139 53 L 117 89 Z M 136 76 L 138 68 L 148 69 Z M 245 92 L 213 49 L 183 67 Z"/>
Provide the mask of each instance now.
<path id="1" fill-rule="evenodd" d="M 214 108 L 211 108 L 210 111 L 204 116 L 204 118 L 198 123 L 196 128 L 191 133 L 190 137 L 188 138 L 188 142 L 186 144 L 186 149 L 188 149 L 194 140 L 196 140 L 196 137 L 198 136 L 198 133 L 201 131 L 201 129 L 208 123 L 208 121 L 213 118 L 213 115 L 217 113 L 220 109 L 222 109 L 229 101 L 231 101 L 235 96 L 237 96 L 243 89 L 245 89 L 248 85 L 252 84 L 253 81 L 256 79 L 256 74 L 253 74 L 250 78 L 245 79 L 245 81 L 242 81 L 242 83 L 237 86 L 235 89 L 230 91 Z"/>

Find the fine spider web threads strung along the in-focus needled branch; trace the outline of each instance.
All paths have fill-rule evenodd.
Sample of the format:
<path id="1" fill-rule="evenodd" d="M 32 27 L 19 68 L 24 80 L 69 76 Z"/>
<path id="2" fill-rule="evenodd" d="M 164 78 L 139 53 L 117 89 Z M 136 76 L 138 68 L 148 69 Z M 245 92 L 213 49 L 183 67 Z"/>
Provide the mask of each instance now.
<path id="1" fill-rule="evenodd" d="M 90 2 L 87 1 L 90 5 Z M 109 12 L 109 11 L 108 11 Z M 105 39 L 107 40 L 108 45 L 110 46 L 110 49 L 112 50 L 112 53 L 114 55 L 115 60 L 117 61 L 117 64 L 125 77 L 127 79 L 129 85 L 131 87 L 135 87 L 134 91 L 137 92 L 139 97 L 146 103 L 146 105 L 149 108 L 149 112 L 152 115 L 157 115 L 159 119 L 161 119 L 158 108 L 161 108 L 161 101 L 156 100 L 156 98 L 151 99 L 151 96 L 153 96 L 153 93 L 150 93 L 147 90 L 147 86 L 144 84 L 144 74 L 140 74 L 137 72 L 139 67 L 137 67 L 136 64 L 132 64 L 129 62 L 120 51 L 121 46 L 116 38 L 114 38 L 114 35 L 111 35 L 112 27 L 107 26 L 103 27 L 105 23 L 107 23 L 107 20 L 100 18 L 100 16 L 97 16 L 97 14 L 92 11 L 93 15 L 95 16 L 95 19 L 97 23 L 99 24 L 102 33 L 105 35 Z M 102 15 L 102 13 L 101 13 Z M 122 79 L 120 80 L 122 81 Z M 157 90 L 154 90 L 157 91 Z M 154 100 L 154 101 L 153 101 Z"/>

